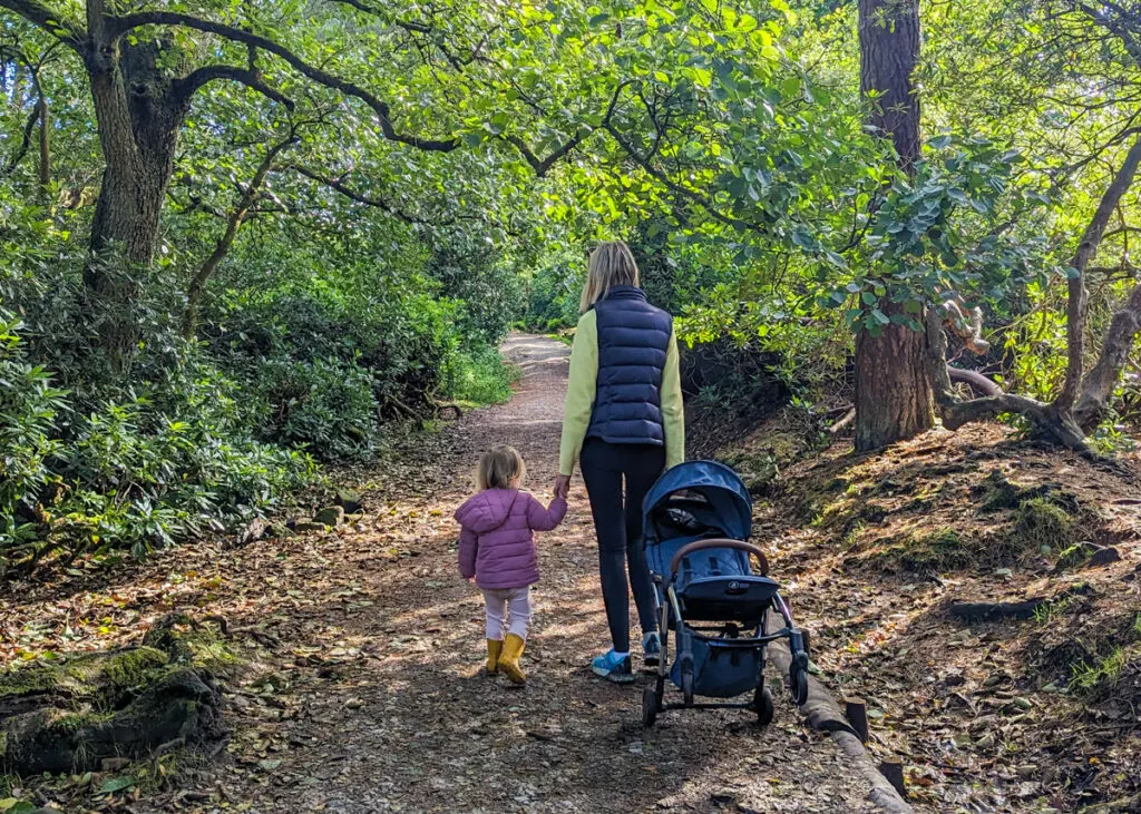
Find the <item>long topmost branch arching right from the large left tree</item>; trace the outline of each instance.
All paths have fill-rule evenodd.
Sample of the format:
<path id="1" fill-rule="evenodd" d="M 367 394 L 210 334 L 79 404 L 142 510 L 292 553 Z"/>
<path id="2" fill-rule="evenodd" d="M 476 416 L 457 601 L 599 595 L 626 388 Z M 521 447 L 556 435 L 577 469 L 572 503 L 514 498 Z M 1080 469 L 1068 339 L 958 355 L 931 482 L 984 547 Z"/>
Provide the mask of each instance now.
<path id="1" fill-rule="evenodd" d="M 0 0 L 0 2 L 3 1 L 5 0 Z M 365 103 L 377 115 L 377 121 L 380 124 L 380 131 L 389 141 L 397 141 L 416 149 L 436 153 L 450 153 L 460 146 L 460 140 L 455 138 L 430 139 L 398 132 L 393 127 L 391 111 L 387 103 L 354 82 L 349 82 L 348 80 L 343 80 L 329 73 L 327 71 L 323 71 L 322 68 L 310 65 L 280 42 L 261 36 L 260 34 L 254 34 L 249 31 L 243 31 L 242 29 L 235 29 L 230 25 L 215 23 L 208 19 L 200 19 L 199 17 L 178 11 L 139 11 L 137 14 L 128 14 L 121 17 L 112 17 L 110 18 L 110 23 L 116 35 L 122 35 L 128 31 L 143 26 L 167 25 L 193 29 L 194 31 L 215 34 L 216 36 L 220 36 L 232 42 L 242 42 L 256 46 L 261 50 L 281 57 L 293 70 L 314 82 Z"/>

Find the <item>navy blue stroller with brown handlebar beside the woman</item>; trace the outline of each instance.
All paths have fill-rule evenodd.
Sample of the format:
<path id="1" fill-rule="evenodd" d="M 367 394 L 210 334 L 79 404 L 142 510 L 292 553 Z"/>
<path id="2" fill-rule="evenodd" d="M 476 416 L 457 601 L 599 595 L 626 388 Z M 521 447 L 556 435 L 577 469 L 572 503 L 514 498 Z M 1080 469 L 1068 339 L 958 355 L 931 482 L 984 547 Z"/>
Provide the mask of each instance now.
<path id="1" fill-rule="evenodd" d="M 686 707 L 752 709 L 761 724 L 772 719 L 772 693 L 764 686 L 764 649 L 788 641 L 793 700 L 808 699 L 808 644 L 769 579 L 764 553 L 747 543 L 752 500 L 741 478 L 712 461 L 674 466 L 650 488 L 642 504 L 646 559 L 661 613 L 662 654 L 656 682 L 642 694 L 642 723 Z M 759 569 L 753 570 L 750 557 Z M 768 632 L 769 611 L 784 626 Z M 670 660 L 670 637 L 675 640 Z M 681 690 L 680 703 L 665 702 L 665 682 Z M 752 692 L 746 702 L 733 702 Z M 695 702 L 695 698 L 726 699 Z"/>

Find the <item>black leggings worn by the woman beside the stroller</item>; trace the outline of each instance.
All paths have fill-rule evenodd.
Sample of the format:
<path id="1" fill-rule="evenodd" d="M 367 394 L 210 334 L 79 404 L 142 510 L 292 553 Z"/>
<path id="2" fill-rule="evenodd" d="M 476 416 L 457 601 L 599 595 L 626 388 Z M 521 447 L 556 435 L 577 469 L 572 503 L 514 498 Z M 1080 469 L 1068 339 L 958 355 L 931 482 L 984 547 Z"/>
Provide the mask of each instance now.
<path id="1" fill-rule="evenodd" d="M 641 536 L 641 504 L 665 469 L 665 448 L 649 443 L 606 443 L 589 439 L 580 456 L 582 479 L 590 496 L 598 534 L 598 572 L 602 580 L 606 621 L 614 649 L 630 652 L 630 587 L 634 592 L 642 633 L 657 630 L 654 586 L 646 565 Z M 625 500 L 622 480 L 625 478 Z"/>

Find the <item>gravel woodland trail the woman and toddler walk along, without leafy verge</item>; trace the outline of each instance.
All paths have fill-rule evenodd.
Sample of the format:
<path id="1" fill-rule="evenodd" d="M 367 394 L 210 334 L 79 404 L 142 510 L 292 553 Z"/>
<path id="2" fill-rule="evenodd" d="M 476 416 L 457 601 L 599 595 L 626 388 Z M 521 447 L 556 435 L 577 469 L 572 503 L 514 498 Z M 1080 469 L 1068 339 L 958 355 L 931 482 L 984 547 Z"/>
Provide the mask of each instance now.
<path id="1" fill-rule="evenodd" d="M 482 604 L 459 579 L 455 529 L 439 518 L 467 496 L 474 462 L 493 443 L 516 446 L 532 490 L 549 498 L 568 356 L 559 342 L 521 335 L 504 351 L 523 369 L 515 398 L 445 430 L 444 459 L 430 467 L 443 482 L 411 483 L 420 489 L 405 499 L 427 521 L 410 542 L 419 555 L 388 563 L 375 551 L 386 542 L 366 538 L 355 546 L 361 559 L 338 567 L 340 579 L 362 586 L 357 599 L 374 603 L 342 622 L 372 658 L 306 693 L 322 723 L 307 727 L 315 741 L 296 755 L 327 754 L 333 776 L 304 791 L 266 787 L 254 809 L 868 809 L 863 780 L 844 771 L 831 741 L 803 728 L 782 694 L 767 731 L 747 713 L 675 713 L 646 731 L 641 684 L 617 687 L 589 673 L 607 635 L 580 482 L 567 521 L 539 540 L 543 578 L 526 689 L 480 675 Z"/>

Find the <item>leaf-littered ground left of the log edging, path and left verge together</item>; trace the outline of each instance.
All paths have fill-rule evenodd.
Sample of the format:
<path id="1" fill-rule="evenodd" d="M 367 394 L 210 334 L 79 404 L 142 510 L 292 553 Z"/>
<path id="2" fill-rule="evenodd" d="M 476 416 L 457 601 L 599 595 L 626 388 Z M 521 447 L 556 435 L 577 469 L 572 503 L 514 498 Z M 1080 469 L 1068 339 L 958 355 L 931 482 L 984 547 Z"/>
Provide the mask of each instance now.
<path id="1" fill-rule="evenodd" d="M 241 657 L 227 683 L 232 733 L 213 759 L 168 755 L 11 796 L 137 814 L 872 811 L 866 781 L 804 726 L 779 681 L 767 728 L 745 711 L 695 711 L 645 730 L 645 678 L 620 687 L 590 674 L 608 637 L 581 482 L 567 520 L 539 540 L 527 686 L 482 675 L 483 607 L 458 575 L 451 514 L 494 443 L 518 447 L 531 488 L 550 497 L 568 349 L 513 336 L 505 355 L 523 371 L 508 405 L 347 475 L 363 519 L 5 587 L 5 664 L 138 643 L 175 610 L 224 617 Z"/>

